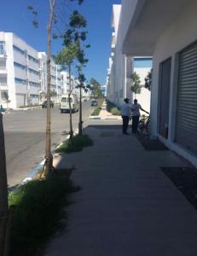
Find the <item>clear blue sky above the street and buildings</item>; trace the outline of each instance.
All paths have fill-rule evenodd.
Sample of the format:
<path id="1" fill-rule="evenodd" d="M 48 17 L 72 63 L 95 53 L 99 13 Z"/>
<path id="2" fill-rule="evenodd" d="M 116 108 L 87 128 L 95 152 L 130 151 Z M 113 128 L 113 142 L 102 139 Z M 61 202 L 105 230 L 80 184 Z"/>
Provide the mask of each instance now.
<path id="1" fill-rule="evenodd" d="M 56 0 L 56 3 L 57 14 L 63 13 L 65 20 L 73 9 L 78 9 L 86 18 L 88 22 L 86 43 L 90 44 L 90 49 L 86 52 L 89 62 L 84 74 L 88 80 L 93 77 L 101 84 L 105 84 L 113 32 L 111 28 L 112 6 L 115 3 L 121 3 L 121 0 L 84 0 L 81 6 L 76 3 L 69 3 L 68 0 Z M 69 5 L 67 5 L 68 3 Z M 27 9 L 29 4 L 38 11 L 38 28 L 32 26 L 33 15 Z M 47 51 L 46 27 L 48 17 L 49 0 L 1 0 L 0 31 L 14 32 L 34 49 Z M 64 26 L 61 20 L 57 24 L 58 31 L 62 31 Z M 52 54 L 56 54 L 61 48 L 60 40 L 52 41 Z"/>

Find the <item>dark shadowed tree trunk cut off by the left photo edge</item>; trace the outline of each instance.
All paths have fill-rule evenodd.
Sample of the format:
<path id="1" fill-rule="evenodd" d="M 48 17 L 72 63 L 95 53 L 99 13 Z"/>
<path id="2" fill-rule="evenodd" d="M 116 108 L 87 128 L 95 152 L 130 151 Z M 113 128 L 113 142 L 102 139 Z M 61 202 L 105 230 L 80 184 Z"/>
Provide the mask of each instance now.
<path id="1" fill-rule="evenodd" d="M 4 251 L 8 215 L 9 203 L 3 132 L 3 115 L 0 113 L 0 255 L 3 255 Z"/>

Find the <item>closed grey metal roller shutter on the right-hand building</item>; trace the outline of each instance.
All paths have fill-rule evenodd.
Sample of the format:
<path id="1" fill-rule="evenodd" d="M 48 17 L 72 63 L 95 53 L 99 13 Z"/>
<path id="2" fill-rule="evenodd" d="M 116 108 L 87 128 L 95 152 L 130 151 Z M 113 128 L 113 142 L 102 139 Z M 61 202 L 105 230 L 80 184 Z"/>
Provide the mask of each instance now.
<path id="1" fill-rule="evenodd" d="M 176 142 L 197 154 L 197 43 L 179 55 Z"/>

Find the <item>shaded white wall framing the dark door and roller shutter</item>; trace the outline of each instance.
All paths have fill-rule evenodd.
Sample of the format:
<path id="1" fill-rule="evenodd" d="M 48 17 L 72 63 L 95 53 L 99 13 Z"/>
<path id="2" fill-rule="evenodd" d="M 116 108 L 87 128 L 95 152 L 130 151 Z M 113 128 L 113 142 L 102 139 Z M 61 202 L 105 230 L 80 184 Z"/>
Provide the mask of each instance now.
<path id="1" fill-rule="evenodd" d="M 192 154 L 183 150 L 180 146 L 173 143 L 176 102 L 177 102 L 177 53 L 197 40 L 197 2 L 189 1 L 187 8 L 177 16 L 162 36 L 158 39 L 154 49 L 154 73 L 151 96 L 151 131 L 157 134 L 157 115 L 159 97 L 159 63 L 171 57 L 171 96 L 170 96 L 170 118 L 169 118 L 169 139 L 165 143 L 177 153 L 182 154 L 197 166 L 197 159 Z"/>

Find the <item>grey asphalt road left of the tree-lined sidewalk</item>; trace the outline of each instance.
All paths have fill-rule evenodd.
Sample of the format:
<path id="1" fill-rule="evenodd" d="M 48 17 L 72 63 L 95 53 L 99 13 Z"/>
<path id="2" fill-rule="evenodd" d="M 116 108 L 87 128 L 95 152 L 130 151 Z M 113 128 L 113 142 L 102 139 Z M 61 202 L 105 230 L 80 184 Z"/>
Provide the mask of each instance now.
<path id="1" fill-rule="evenodd" d="M 90 102 L 83 103 L 83 120 L 92 112 Z M 78 113 L 72 114 L 73 129 L 78 128 Z M 43 160 L 45 148 L 46 109 L 18 110 L 3 116 L 5 151 L 9 187 L 20 183 Z M 51 109 L 52 149 L 66 138 L 69 114 Z"/>

